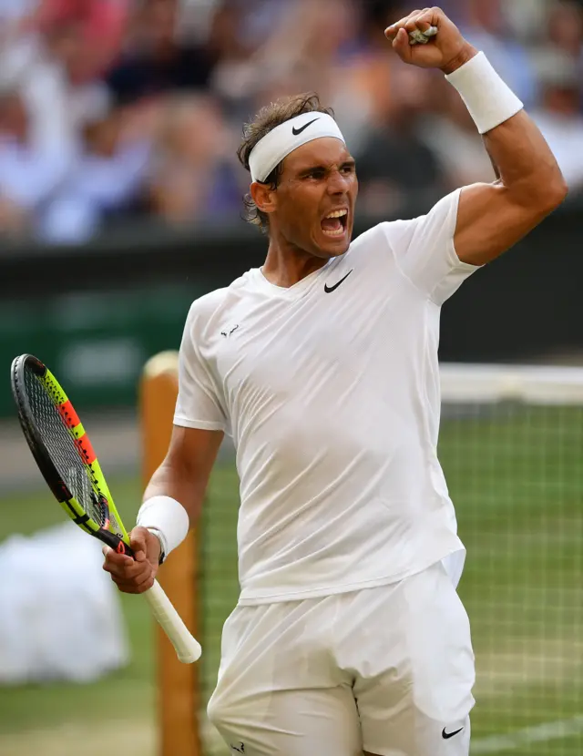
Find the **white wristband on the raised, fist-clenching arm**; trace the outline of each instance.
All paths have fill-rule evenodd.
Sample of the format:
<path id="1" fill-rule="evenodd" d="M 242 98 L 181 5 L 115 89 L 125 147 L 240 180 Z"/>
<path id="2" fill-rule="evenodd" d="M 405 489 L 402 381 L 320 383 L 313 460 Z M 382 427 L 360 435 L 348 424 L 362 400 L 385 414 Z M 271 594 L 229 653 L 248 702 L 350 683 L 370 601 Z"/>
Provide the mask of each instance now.
<path id="1" fill-rule="evenodd" d="M 516 116 L 524 107 L 484 53 L 478 53 L 445 78 L 459 92 L 480 134 Z"/>

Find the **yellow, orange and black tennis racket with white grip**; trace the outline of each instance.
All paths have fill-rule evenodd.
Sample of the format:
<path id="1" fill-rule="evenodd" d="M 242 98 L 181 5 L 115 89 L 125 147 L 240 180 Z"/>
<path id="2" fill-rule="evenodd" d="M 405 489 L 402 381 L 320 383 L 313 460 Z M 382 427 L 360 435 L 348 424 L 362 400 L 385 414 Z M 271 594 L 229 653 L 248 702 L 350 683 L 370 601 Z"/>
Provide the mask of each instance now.
<path id="1" fill-rule="evenodd" d="M 133 557 L 85 428 L 53 373 L 32 354 L 22 354 L 12 363 L 10 378 L 26 442 L 56 500 L 90 536 Z M 143 595 L 180 661 L 189 664 L 199 659 L 199 642 L 158 581 Z"/>

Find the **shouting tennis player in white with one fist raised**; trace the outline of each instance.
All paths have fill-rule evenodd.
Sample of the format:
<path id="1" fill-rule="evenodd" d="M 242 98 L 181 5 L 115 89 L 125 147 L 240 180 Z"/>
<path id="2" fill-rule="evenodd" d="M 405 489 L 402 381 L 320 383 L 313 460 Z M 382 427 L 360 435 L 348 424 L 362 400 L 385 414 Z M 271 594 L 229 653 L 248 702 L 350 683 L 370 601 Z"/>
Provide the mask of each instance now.
<path id="1" fill-rule="evenodd" d="M 409 44 L 409 33 L 437 35 Z M 522 103 L 438 8 L 385 32 L 465 101 L 499 179 L 351 243 L 358 183 L 317 97 L 261 110 L 240 158 L 261 269 L 195 301 L 165 462 L 132 543 L 148 588 L 196 524 L 223 434 L 240 475 L 240 600 L 209 716 L 246 756 L 467 756 L 474 655 L 465 557 L 437 461 L 442 304 L 565 198 Z M 210 505 L 211 506 L 211 505 Z"/>

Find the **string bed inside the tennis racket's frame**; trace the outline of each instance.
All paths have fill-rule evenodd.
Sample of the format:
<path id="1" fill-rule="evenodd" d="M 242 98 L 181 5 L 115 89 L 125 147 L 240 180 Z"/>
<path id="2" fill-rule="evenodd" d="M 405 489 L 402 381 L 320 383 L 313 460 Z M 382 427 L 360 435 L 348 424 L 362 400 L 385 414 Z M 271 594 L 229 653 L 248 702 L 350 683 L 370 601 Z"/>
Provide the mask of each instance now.
<path id="1" fill-rule="evenodd" d="M 80 458 L 74 438 L 56 408 L 56 397 L 51 397 L 50 389 L 35 373 L 26 370 L 25 383 L 31 412 L 51 462 L 87 516 L 98 526 L 105 526 L 107 507 L 100 499 L 90 467 Z"/>

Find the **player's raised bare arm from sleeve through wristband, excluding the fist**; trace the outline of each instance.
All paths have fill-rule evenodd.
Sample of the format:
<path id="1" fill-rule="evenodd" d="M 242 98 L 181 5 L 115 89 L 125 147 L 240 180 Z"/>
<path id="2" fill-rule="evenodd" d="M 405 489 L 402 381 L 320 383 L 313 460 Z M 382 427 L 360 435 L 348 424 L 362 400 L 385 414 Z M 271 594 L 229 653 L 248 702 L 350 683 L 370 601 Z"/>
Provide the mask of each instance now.
<path id="1" fill-rule="evenodd" d="M 547 142 L 486 56 L 471 56 L 447 77 L 483 135 L 499 177 L 465 187 L 457 211 L 457 255 L 483 265 L 557 208 L 567 188 Z"/>

